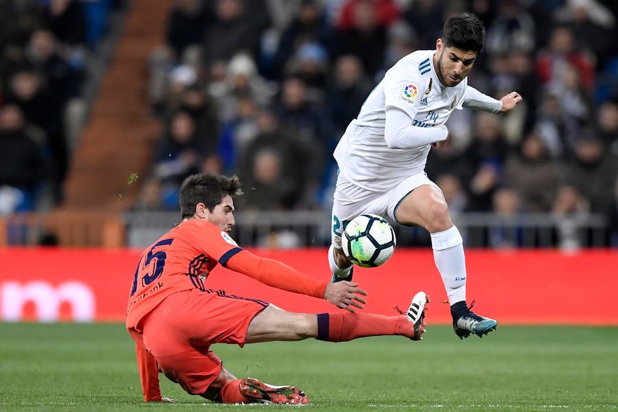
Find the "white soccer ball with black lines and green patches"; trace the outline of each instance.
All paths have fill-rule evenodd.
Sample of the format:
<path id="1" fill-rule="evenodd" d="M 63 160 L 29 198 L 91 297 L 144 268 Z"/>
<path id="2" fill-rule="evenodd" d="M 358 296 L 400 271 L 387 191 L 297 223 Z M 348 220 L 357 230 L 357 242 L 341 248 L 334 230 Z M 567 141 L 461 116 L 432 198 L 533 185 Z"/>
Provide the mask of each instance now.
<path id="1" fill-rule="evenodd" d="M 384 264 L 395 252 L 395 231 L 389 222 L 374 214 L 350 220 L 341 236 L 343 253 L 363 268 Z"/>

